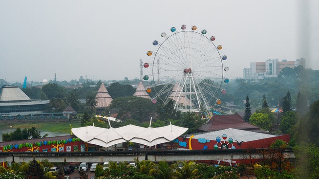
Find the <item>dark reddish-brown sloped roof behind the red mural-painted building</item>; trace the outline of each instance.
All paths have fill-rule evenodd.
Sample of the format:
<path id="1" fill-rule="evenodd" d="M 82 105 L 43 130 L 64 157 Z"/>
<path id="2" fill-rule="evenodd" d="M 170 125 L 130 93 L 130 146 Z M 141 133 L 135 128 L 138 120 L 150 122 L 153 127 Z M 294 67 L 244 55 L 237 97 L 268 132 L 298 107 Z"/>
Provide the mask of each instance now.
<path id="1" fill-rule="evenodd" d="M 199 127 L 198 132 L 219 131 L 228 128 L 240 129 L 245 131 L 265 132 L 258 126 L 245 122 L 239 114 L 214 115 L 207 124 Z"/>

